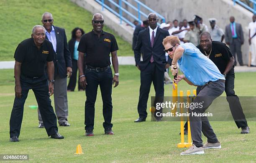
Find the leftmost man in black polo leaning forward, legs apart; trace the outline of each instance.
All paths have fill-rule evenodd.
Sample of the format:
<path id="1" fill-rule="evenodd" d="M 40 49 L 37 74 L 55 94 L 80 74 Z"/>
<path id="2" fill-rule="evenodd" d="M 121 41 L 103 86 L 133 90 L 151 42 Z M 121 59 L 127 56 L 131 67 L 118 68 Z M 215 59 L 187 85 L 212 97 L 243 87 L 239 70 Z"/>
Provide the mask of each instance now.
<path id="1" fill-rule="evenodd" d="M 10 141 L 19 141 L 24 103 L 30 89 L 36 96 L 48 136 L 63 139 L 58 133 L 56 115 L 49 97 L 54 93 L 53 46 L 45 40 L 45 28 L 41 25 L 33 27 L 31 36 L 32 38 L 23 40 L 15 50 L 15 100 L 10 117 Z"/>

